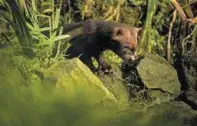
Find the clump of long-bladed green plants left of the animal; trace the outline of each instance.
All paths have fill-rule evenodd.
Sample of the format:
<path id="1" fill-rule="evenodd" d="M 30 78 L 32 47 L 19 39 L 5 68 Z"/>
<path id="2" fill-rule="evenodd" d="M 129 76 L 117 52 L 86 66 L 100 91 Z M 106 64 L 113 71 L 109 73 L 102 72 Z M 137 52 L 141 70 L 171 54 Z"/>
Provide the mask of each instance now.
<path id="1" fill-rule="evenodd" d="M 2 34 L 7 38 L 3 44 L 9 40 L 7 43 L 11 42 L 16 48 L 22 47 L 24 54 L 33 58 L 32 61 L 39 61 L 40 67 L 48 67 L 63 58 L 69 36 L 62 35 L 62 28 L 59 27 L 60 8 L 55 8 L 52 0 L 42 2 L 42 5 L 39 5 L 37 0 L 8 0 L 1 6 L 8 9 L 0 13 L 1 22 L 4 21 L 2 26 L 5 28 Z M 43 10 L 40 10 L 39 6 L 43 6 Z M 7 25 L 12 29 L 5 27 Z M 11 30 L 15 31 L 13 36 L 16 35 L 14 37 L 18 41 L 10 36 Z"/>

